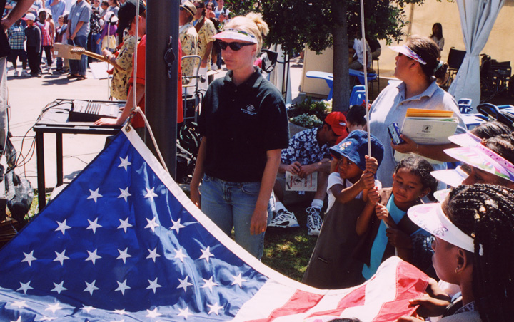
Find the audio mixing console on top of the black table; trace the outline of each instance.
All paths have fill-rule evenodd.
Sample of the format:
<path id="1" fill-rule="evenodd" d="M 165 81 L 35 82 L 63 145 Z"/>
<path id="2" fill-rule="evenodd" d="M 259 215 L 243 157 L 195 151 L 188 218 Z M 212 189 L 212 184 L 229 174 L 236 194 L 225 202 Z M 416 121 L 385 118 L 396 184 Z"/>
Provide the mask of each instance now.
<path id="1" fill-rule="evenodd" d="M 119 103 L 97 103 L 90 100 L 74 100 L 68 122 L 95 122 L 101 118 L 118 118 Z"/>

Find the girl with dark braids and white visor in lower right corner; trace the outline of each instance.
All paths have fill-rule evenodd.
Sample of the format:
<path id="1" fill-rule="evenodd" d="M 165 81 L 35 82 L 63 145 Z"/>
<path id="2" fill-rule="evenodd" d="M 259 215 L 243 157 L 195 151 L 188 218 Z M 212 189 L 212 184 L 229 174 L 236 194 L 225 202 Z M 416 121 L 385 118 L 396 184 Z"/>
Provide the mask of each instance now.
<path id="1" fill-rule="evenodd" d="M 440 322 L 512 321 L 514 316 L 514 190 L 498 185 L 461 185 L 443 204 L 412 207 L 408 216 L 431 232 L 438 277 L 458 284 L 462 293 L 445 306 L 434 284 L 411 300 L 418 313 Z M 508 256 L 505 256 L 508 254 Z M 448 298 L 446 298 L 448 299 Z M 398 321 L 420 321 L 403 317 Z"/>

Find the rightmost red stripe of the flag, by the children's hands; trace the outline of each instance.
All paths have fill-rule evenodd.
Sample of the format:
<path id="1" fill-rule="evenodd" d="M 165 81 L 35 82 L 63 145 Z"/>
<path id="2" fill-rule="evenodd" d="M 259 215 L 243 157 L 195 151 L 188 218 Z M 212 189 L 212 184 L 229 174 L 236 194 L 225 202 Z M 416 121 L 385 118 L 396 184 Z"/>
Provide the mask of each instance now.
<path id="1" fill-rule="evenodd" d="M 396 268 L 396 296 L 394 301 L 383 304 L 373 322 L 396 321 L 399 316 L 411 316 L 418 306 L 410 306 L 411 298 L 423 296 L 428 286 L 428 276 L 420 270 L 401 261 Z"/>

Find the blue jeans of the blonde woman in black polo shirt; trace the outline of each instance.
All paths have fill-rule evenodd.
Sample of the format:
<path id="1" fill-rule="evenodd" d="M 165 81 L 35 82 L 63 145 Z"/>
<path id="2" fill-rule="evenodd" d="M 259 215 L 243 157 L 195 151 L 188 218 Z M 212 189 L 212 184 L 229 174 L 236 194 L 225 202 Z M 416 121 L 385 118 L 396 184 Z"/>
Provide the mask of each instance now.
<path id="1" fill-rule="evenodd" d="M 208 175 L 201 185 L 201 209 L 228 236 L 232 227 L 236 243 L 261 259 L 264 233 L 252 235 L 250 224 L 261 182 L 227 182 Z M 268 223 L 270 218 L 268 217 Z"/>

